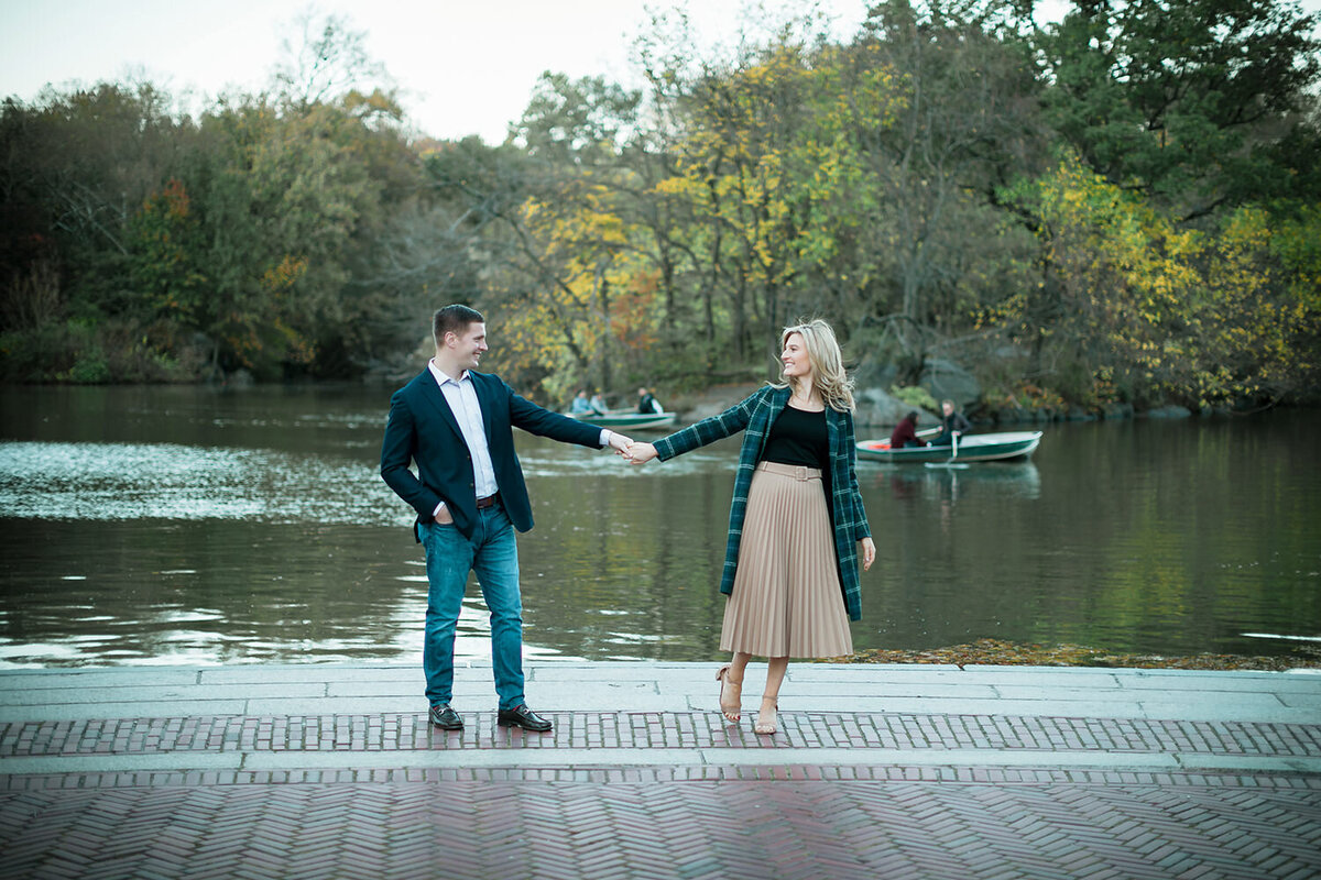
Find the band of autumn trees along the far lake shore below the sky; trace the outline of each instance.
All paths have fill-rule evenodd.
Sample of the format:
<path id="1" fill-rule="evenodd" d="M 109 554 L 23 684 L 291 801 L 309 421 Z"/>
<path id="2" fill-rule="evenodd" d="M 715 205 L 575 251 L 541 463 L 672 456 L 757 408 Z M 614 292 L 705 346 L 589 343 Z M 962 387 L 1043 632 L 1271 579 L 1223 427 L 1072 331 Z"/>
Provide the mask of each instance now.
<path id="1" fill-rule="evenodd" d="M 1316 402 L 1318 22 L 1030 4 L 728 51 L 662 12 L 643 87 L 547 73 L 501 145 L 416 133 L 312 13 L 268 90 L 196 115 L 151 82 L 11 98 L 0 380 L 398 379 L 468 302 L 548 405 L 762 379 L 799 317 L 868 381 L 952 361 L 989 406 Z"/>

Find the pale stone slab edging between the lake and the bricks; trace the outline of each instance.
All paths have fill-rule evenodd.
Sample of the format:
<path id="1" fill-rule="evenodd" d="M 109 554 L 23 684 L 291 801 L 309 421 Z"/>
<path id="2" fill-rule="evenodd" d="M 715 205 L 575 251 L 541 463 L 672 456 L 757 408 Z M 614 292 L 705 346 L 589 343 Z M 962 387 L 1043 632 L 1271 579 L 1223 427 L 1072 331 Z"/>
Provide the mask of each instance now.
<path id="1" fill-rule="evenodd" d="M 715 710 L 716 664 L 536 662 L 534 708 Z M 745 682 L 754 705 L 765 666 Z M 161 689 L 161 690 L 153 690 Z M 273 665 L 0 672 L 0 720 L 190 714 L 309 715 L 416 711 L 421 672 L 400 665 Z M 235 706 L 235 697 L 246 702 Z M 207 708 L 207 701 L 218 701 Z M 223 702 L 223 707 L 219 701 Z M 303 701 L 303 702 L 297 702 Z M 369 702 L 370 701 L 370 702 Z M 456 706 L 494 702 L 489 664 L 460 666 Z M 1321 676 L 1074 668 L 794 664 L 786 711 L 906 711 L 1308 723 L 1321 718 Z"/>

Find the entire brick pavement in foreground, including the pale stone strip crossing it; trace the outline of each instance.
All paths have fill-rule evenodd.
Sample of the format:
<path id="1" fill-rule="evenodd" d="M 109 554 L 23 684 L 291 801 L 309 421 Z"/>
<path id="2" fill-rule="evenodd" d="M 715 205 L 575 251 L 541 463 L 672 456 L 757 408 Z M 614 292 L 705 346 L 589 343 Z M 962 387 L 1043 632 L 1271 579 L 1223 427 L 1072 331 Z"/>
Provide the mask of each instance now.
<path id="1" fill-rule="evenodd" d="M 1296 711 L 786 711 L 758 738 L 709 708 L 551 735 L 95 708 L 0 722 L 0 877 L 1321 877 Z"/>

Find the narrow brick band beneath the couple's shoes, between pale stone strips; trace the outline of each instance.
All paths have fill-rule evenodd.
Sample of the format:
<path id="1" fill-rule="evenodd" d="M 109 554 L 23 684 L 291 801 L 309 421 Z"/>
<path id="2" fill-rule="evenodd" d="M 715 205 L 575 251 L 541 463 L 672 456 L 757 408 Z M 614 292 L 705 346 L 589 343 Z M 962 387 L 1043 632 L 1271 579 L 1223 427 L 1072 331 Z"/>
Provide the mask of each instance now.
<path id="1" fill-rule="evenodd" d="M 415 751 L 474 748 L 881 748 L 1086 749 L 1306 757 L 1321 755 L 1321 724 L 1189 722 L 908 712 L 783 712 L 781 732 L 757 736 L 716 712 L 543 712 L 552 736 L 498 727 L 469 712 L 445 732 L 425 712 L 324 716 L 139 718 L 0 724 L 0 757 L 156 752 Z"/>

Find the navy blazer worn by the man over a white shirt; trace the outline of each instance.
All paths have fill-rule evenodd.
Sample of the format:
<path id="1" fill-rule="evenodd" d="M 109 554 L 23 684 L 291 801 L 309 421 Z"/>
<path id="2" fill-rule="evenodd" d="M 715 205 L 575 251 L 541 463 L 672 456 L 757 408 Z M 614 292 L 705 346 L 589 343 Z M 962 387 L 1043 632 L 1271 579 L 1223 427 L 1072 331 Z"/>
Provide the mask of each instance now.
<path id="1" fill-rule="evenodd" d="M 517 426 L 531 434 L 592 449 L 601 447 L 601 429 L 542 409 L 515 394 L 499 376 L 472 371 L 468 375 L 482 408 L 486 446 L 495 467 L 501 503 L 514 528 L 527 532 L 532 528 L 532 505 L 527 500 L 523 468 L 514 453 L 511 429 Z M 410 462 L 417 462 L 416 476 L 408 470 Z M 390 422 L 380 445 L 380 476 L 417 511 L 413 536 L 419 541 L 417 525 L 431 522 L 441 501 L 449 508 L 458 530 L 473 536 L 477 524 L 473 456 L 431 369 L 424 369 L 390 398 Z"/>

